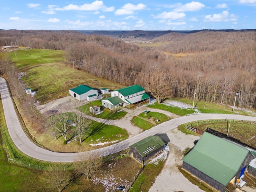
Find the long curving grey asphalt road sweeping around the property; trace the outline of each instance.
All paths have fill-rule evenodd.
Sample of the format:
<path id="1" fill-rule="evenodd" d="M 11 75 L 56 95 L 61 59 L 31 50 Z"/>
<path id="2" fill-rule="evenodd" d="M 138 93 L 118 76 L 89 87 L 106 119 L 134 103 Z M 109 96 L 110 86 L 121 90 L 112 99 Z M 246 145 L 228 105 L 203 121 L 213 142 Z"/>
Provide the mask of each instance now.
<path id="1" fill-rule="evenodd" d="M 1 101 L 4 108 L 4 116 L 6 119 L 6 124 L 10 136 L 17 146 L 17 148 L 23 152 L 24 154 L 36 158 L 38 160 L 44 160 L 49 162 L 74 162 L 78 158 L 78 154 L 81 153 L 96 153 L 98 156 L 106 156 L 109 154 L 114 154 L 116 152 L 122 151 L 128 148 L 130 145 L 154 134 L 158 133 L 166 133 L 172 129 L 177 128 L 180 124 L 198 121 L 198 120 L 208 120 L 208 119 L 236 119 L 236 120 L 248 120 L 248 121 L 256 121 L 256 117 L 251 116 L 241 116 L 241 115 L 233 115 L 233 114 L 193 114 L 189 116 L 182 116 L 179 118 L 174 118 L 162 124 L 159 124 L 150 130 L 144 131 L 136 136 L 128 138 L 122 142 L 117 144 L 113 144 L 111 146 L 107 146 L 104 148 L 100 148 L 97 150 L 92 150 L 88 152 L 80 152 L 80 153 L 59 153 L 52 152 L 49 150 L 45 150 L 40 148 L 36 144 L 34 144 L 30 139 L 26 136 L 23 131 L 16 112 L 14 110 L 14 106 L 12 104 L 12 99 L 8 92 L 8 87 L 6 85 L 6 80 L 0 77 L 0 94 Z M 94 156 L 95 157 L 95 156 Z"/>

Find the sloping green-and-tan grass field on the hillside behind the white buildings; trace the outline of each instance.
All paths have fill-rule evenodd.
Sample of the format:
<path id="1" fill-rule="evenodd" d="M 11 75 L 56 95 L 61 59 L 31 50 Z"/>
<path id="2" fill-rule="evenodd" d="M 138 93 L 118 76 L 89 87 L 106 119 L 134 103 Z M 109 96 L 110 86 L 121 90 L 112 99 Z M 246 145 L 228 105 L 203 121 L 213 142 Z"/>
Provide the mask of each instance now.
<path id="1" fill-rule="evenodd" d="M 115 90 L 120 85 L 97 78 L 67 64 L 65 52 L 60 50 L 19 49 L 8 53 L 15 65 L 24 73 L 22 80 L 41 104 L 69 95 L 68 90 L 80 84 L 93 88 Z"/>

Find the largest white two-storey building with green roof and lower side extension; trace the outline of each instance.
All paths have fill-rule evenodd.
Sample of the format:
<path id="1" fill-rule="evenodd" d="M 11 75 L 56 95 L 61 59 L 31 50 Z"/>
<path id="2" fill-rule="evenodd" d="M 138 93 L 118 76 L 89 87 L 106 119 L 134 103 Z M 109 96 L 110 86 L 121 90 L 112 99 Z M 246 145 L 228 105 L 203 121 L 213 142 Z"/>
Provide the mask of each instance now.
<path id="1" fill-rule="evenodd" d="M 135 104 L 150 98 L 150 96 L 145 93 L 145 89 L 139 85 L 133 85 L 112 91 L 111 97 L 115 96 L 119 97 L 124 102 L 124 106 L 128 104 Z"/>

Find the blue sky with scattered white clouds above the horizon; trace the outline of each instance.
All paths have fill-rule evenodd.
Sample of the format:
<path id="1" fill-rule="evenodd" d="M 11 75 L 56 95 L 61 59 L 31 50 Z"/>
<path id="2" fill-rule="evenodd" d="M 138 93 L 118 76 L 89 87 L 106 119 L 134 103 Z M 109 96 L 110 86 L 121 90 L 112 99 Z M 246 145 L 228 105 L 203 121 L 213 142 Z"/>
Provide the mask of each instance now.
<path id="1" fill-rule="evenodd" d="M 0 29 L 255 29 L 256 0 L 2 0 Z"/>

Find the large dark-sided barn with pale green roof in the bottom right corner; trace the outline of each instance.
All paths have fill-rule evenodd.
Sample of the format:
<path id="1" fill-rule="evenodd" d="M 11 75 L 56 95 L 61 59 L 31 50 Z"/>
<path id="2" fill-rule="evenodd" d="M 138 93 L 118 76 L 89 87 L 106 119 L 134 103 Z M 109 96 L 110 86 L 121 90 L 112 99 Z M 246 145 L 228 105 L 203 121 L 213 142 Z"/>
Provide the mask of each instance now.
<path id="1" fill-rule="evenodd" d="M 234 184 L 254 159 L 253 150 L 234 141 L 204 132 L 182 159 L 182 168 L 220 192 Z"/>

